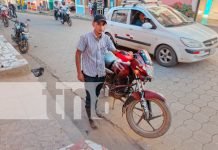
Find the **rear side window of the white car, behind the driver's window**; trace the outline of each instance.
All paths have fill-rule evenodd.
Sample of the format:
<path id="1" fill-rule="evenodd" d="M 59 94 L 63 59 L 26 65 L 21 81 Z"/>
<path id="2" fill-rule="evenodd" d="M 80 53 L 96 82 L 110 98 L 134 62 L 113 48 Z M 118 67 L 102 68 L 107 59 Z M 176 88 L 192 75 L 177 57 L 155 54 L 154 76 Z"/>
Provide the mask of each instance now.
<path id="1" fill-rule="evenodd" d="M 115 10 L 111 17 L 111 21 L 119 23 L 127 23 L 129 10 Z"/>

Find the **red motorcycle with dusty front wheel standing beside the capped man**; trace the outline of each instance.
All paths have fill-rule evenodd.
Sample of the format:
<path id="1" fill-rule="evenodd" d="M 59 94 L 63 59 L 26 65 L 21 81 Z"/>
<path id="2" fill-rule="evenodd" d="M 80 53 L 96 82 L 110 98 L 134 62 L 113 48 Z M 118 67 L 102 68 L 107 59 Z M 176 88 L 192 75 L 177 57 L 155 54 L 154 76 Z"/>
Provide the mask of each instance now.
<path id="1" fill-rule="evenodd" d="M 125 51 L 105 55 L 105 88 L 109 96 L 119 99 L 122 112 L 131 129 L 145 138 L 157 138 L 167 132 L 171 114 L 166 99 L 145 84 L 153 78 L 153 66 L 149 54 L 140 50 L 135 54 Z"/>

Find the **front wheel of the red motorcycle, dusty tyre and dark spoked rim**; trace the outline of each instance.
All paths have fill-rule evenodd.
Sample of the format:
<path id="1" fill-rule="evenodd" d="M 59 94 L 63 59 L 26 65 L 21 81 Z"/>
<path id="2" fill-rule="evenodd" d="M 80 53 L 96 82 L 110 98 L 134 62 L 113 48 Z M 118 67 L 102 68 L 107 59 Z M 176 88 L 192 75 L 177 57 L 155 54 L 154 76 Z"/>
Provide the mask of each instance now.
<path id="1" fill-rule="evenodd" d="M 170 127 L 170 124 L 171 124 L 171 113 L 169 111 L 169 108 L 167 107 L 167 105 L 164 102 L 162 102 L 160 100 L 157 100 L 157 99 L 149 99 L 148 101 L 150 103 L 156 104 L 160 108 L 160 110 L 162 111 L 162 114 L 153 116 L 153 111 L 154 110 L 153 110 L 153 108 L 151 106 L 151 109 L 152 109 L 151 118 L 149 118 L 150 120 L 149 119 L 146 120 L 146 119 L 144 119 L 143 109 L 141 107 L 140 108 L 136 107 L 136 105 L 141 106 L 140 101 L 133 100 L 129 104 L 129 106 L 127 107 L 126 118 L 127 118 L 127 122 L 129 124 L 130 128 L 135 133 L 137 133 L 138 135 L 140 135 L 140 136 L 142 136 L 144 138 L 157 138 L 157 137 L 160 137 L 160 136 L 164 135 L 168 131 L 168 129 Z M 138 116 L 140 116 L 139 119 L 137 119 L 138 121 L 135 121 L 135 119 L 134 119 L 134 116 L 133 116 L 134 115 L 134 109 L 138 110 L 139 112 L 141 111 L 141 113 L 142 113 L 142 115 L 138 115 Z M 155 129 L 152 126 L 150 121 L 153 120 L 152 118 L 158 119 L 161 116 L 163 116 L 163 121 L 162 121 L 160 127 Z M 152 131 L 147 131 L 147 130 L 143 129 L 142 125 L 143 125 L 143 127 L 147 126 Z M 157 121 L 156 121 L 156 125 L 157 125 Z"/>

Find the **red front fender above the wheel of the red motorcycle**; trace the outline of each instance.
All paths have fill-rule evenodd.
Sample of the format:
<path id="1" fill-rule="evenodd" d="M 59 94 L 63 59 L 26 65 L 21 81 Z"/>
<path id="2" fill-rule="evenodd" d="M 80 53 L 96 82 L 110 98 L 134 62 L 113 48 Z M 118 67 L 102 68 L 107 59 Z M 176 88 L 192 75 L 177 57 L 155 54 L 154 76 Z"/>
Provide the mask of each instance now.
<path id="1" fill-rule="evenodd" d="M 144 98 L 145 99 L 156 99 L 162 102 L 166 101 L 166 98 L 157 92 L 151 91 L 151 90 L 145 90 L 144 91 Z M 126 113 L 126 109 L 128 108 L 129 104 L 132 101 L 139 101 L 141 99 L 140 92 L 133 92 L 125 101 L 122 108 L 122 115 Z"/>

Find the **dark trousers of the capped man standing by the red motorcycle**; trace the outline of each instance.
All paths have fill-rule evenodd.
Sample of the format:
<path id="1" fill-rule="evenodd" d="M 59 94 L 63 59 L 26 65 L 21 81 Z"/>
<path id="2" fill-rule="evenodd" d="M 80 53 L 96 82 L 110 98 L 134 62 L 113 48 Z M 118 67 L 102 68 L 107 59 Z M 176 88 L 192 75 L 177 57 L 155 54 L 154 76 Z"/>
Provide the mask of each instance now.
<path id="1" fill-rule="evenodd" d="M 103 83 L 105 81 L 105 77 L 90 77 L 85 74 L 85 89 L 86 89 L 86 104 L 85 107 L 90 109 L 92 104 L 96 107 L 96 103 L 98 100 L 98 96 L 100 95 L 100 91 L 102 89 Z M 93 102 L 93 103 L 92 103 Z"/>

